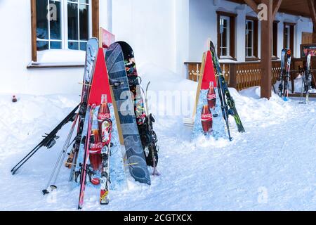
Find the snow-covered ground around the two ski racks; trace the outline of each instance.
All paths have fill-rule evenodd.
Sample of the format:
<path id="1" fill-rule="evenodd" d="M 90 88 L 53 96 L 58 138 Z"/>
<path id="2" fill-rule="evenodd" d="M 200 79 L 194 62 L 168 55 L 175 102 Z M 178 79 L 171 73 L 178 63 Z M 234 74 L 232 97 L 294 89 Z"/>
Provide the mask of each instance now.
<path id="1" fill-rule="evenodd" d="M 197 87 L 169 71 L 151 68 L 139 68 L 143 83 L 152 81 L 151 99 L 158 91 L 187 93 Z M 259 98 L 258 87 L 230 91 L 245 134 L 233 129 L 232 142 L 192 143 L 191 130 L 183 125 L 187 115 L 174 115 L 168 105 L 152 100 L 162 176 L 152 177 L 152 186 L 129 177 L 129 189 L 112 191 L 107 206 L 98 204 L 98 188 L 88 186 L 84 210 L 315 210 L 316 101 L 302 105 L 298 99 L 284 102 L 276 95 L 268 101 Z M 15 176 L 10 170 L 70 113 L 79 96 L 18 97 L 18 103 L 11 103 L 11 95 L 0 95 L 0 210 L 76 210 L 79 188 L 67 181 L 66 168 L 58 191 L 41 193 L 70 124 L 60 131 L 53 148 L 39 150 Z M 192 105 L 192 99 L 180 105 L 185 102 Z M 230 124 L 235 127 L 232 119 Z"/>

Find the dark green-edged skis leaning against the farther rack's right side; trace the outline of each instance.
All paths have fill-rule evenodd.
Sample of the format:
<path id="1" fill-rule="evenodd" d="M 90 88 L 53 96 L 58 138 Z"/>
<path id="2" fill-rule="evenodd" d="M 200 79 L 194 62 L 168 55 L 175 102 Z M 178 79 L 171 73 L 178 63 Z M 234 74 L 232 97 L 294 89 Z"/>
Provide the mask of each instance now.
<path id="1" fill-rule="evenodd" d="M 244 126 L 242 125 L 242 120 L 240 120 L 240 117 L 237 113 L 235 101 L 230 95 L 228 84 L 226 83 L 225 77 L 223 76 L 223 72 L 220 68 L 218 56 L 216 54 L 216 50 L 212 41 L 211 41 L 210 46 L 211 46 L 211 53 L 212 53 L 212 58 L 213 58 L 214 71 L 216 72 L 218 86 L 219 86 L 218 95 L 220 98 L 220 103 L 222 105 L 223 117 L 226 122 L 226 127 L 228 129 L 228 136 L 231 140 L 228 115 L 232 115 L 232 117 L 234 117 L 239 133 L 243 133 L 245 130 L 244 130 Z"/>

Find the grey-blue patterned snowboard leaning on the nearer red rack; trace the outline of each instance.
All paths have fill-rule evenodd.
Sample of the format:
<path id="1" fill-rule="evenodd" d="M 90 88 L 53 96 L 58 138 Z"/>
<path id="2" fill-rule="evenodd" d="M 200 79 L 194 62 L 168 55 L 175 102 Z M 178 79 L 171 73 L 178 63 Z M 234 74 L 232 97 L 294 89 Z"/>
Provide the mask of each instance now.
<path id="1" fill-rule="evenodd" d="M 150 174 L 138 132 L 132 93 L 129 89 L 129 79 L 124 63 L 124 53 L 118 42 L 110 45 L 107 49 L 105 60 L 110 79 L 121 82 L 121 85 L 113 86 L 113 97 L 117 105 L 117 113 L 126 148 L 127 162 L 125 164 L 129 165 L 129 172 L 136 181 L 150 185 Z"/>

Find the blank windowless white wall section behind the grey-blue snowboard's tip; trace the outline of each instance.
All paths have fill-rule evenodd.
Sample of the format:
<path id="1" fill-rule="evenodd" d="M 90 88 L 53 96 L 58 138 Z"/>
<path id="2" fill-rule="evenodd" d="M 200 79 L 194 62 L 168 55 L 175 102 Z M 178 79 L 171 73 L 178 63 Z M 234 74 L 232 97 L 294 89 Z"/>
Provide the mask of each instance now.
<path id="1" fill-rule="evenodd" d="M 136 63 L 154 63 L 176 71 L 175 0 L 112 1 L 117 41 L 128 42 Z"/>

